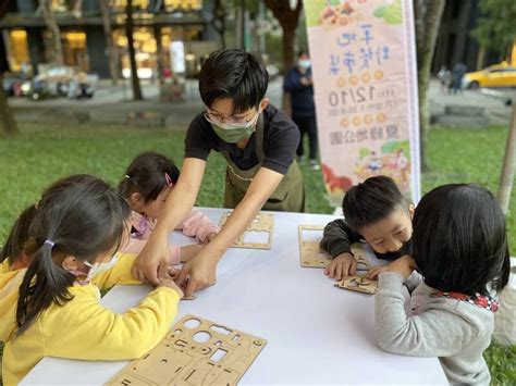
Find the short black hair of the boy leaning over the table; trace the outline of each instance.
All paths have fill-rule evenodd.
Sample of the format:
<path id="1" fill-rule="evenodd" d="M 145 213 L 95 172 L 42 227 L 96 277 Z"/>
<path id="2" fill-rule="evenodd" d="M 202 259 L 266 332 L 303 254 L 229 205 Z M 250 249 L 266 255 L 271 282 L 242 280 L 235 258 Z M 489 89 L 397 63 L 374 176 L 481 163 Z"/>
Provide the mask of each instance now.
<path id="1" fill-rule="evenodd" d="M 380 175 L 367 178 L 347 190 L 342 201 L 346 223 L 357 232 L 388 217 L 397 207 L 407 204 L 396 183 Z"/>

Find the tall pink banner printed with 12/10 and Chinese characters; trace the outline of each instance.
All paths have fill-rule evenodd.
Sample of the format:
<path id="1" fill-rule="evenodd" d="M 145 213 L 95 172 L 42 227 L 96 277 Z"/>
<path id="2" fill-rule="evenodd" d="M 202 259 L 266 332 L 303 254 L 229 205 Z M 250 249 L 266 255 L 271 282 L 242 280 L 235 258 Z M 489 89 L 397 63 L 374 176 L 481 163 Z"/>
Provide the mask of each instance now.
<path id="1" fill-rule="evenodd" d="M 374 175 L 420 196 L 411 0 L 306 0 L 319 148 L 330 201 Z"/>

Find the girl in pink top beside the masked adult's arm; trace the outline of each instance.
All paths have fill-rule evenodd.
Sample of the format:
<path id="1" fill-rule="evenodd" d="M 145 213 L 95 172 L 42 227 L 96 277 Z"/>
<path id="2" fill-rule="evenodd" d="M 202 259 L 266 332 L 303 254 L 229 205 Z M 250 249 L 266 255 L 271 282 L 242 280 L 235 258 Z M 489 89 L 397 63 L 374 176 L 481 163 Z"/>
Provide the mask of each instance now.
<path id="1" fill-rule="evenodd" d="M 123 252 L 138 254 L 144 249 L 179 177 L 180 170 L 174 162 L 156 152 L 144 152 L 131 162 L 119 185 L 119 191 L 132 210 L 131 239 L 122 248 Z M 196 210 L 193 210 L 176 229 L 186 236 L 195 237 L 201 244 L 211 241 L 220 231 L 218 225 Z M 170 245 L 170 264 L 188 261 L 199 248 Z"/>

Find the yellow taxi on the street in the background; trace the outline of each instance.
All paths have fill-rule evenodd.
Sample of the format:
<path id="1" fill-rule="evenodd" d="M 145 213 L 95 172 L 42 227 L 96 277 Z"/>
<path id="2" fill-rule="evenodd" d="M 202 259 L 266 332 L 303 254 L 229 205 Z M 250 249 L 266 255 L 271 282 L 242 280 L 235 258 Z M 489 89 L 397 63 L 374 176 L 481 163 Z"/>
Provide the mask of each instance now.
<path id="1" fill-rule="evenodd" d="M 463 88 L 479 87 L 516 87 L 516 66 L 506 63 L 494 64 L 464 75 Z"/>

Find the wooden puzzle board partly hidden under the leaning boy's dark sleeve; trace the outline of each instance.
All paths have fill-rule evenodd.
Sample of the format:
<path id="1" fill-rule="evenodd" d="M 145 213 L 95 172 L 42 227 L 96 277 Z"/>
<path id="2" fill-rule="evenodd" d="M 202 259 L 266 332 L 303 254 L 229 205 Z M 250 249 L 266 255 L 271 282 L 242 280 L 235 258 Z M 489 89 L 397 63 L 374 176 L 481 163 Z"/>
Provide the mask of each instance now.
<path id="1" fill-rule="evenodd" d="M 321 239 L 305 240 L 303 232 L 305 231 L 323 231 L 323 225 L 299 225 L 299 261 L 300 265 L 305 267 L 324 269 L 332 261 L 331 256 L 320 248 Z M 364 246 L 359 242 L 352 245 L 352 253 L 358 262 L 357 271 L 369 271 L 371 264 L 367 258 L 367 252 Z"/>

